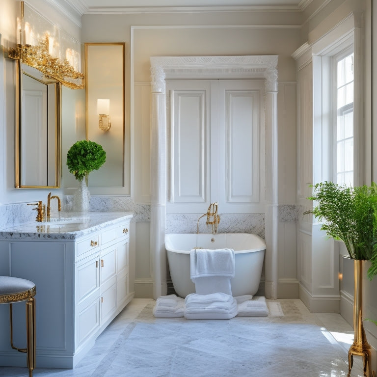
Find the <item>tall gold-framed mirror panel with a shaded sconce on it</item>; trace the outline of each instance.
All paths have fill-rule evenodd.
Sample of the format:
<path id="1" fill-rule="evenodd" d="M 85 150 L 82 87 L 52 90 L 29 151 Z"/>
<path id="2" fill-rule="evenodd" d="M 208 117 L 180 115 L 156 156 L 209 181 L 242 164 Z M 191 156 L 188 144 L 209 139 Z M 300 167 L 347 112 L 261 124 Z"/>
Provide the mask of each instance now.
<path id="1" fill-rule="evenodd" d="M 124 186 L 125 43 L 85 43 L 86 138 L 102 145 L 104 166 L 89 186 Z"/>

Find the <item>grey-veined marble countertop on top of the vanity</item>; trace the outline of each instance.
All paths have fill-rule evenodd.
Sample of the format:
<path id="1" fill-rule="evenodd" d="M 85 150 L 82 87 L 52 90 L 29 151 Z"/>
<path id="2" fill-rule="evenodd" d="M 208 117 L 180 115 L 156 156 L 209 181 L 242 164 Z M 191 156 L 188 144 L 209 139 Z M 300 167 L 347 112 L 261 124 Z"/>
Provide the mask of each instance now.
<path id="1" fill-rule="evenodd" d="M 76 240 L 93 232 L 100 231 L 110 225 L 115 225 L 124 220 L 131 220 L 134 214 L 131 212 L 91 212 L 83 215 L 83 221 L 78 230 L 58 232 L 49 226 L 56 222 L 38 223 L 33 222 L 18 225 L 12 228 L 0 230 L 0 239 L 3 240 Z M 89 219 L 88 219 L 89 218 Z M 39 230 L 38 230 L 39 227 Z M 35 229 L 34 229 L 35 228 Z M 47 231 L 49 230 L 49 231 Z"/>

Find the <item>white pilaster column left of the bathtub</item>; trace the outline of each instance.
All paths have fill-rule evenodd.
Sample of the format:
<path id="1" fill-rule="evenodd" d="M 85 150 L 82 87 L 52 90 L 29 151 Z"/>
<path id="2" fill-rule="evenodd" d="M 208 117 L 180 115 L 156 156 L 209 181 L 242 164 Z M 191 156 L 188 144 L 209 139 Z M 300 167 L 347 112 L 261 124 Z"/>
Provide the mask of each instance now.
<path id="1" fill-rule="evenodd" d="M 159 69 L 160 68 L 160 69 Z M 151 98 L 151 270 L 153 298 L 166 295 L 166 121 L 165 75 L 152 64 Z"/>

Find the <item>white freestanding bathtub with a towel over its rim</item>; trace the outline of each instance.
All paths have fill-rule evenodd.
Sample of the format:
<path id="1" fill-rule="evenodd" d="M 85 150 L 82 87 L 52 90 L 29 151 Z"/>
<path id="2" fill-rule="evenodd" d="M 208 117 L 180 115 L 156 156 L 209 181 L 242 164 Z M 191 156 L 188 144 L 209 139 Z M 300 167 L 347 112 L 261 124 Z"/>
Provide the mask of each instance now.
<path id="1" fill-rule="evenodd" d="M 186 297 L 195 292 L 190 279 L 190 250 L 231 248 L 235 251 L 236 270 L 231 279 L 232 295 L 255 295 L 262 275 L 266 242 L 255 234 L 185 234 L 165 235 L 165 249 L 170 277 L 177 295 Z"/>

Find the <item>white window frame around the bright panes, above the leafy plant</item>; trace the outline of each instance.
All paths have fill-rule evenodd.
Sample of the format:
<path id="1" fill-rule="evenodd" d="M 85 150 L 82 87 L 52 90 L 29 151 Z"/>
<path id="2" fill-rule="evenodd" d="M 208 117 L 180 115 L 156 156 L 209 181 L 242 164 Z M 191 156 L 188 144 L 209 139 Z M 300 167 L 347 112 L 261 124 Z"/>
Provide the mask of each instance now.
<path id="1" fill-rule="evenodd" d="M 353 50 L 353 185 L 364 184 L 363 139 L 363 45 L 361 31 L 352 27 L 339 35 L 327 34 L 312 47 L 313 57 L 313 183 L 336 182 L 334 177 L 334 104 L 333 59 Z M 334 110 L 335 107 L 335 110 Z"/>

